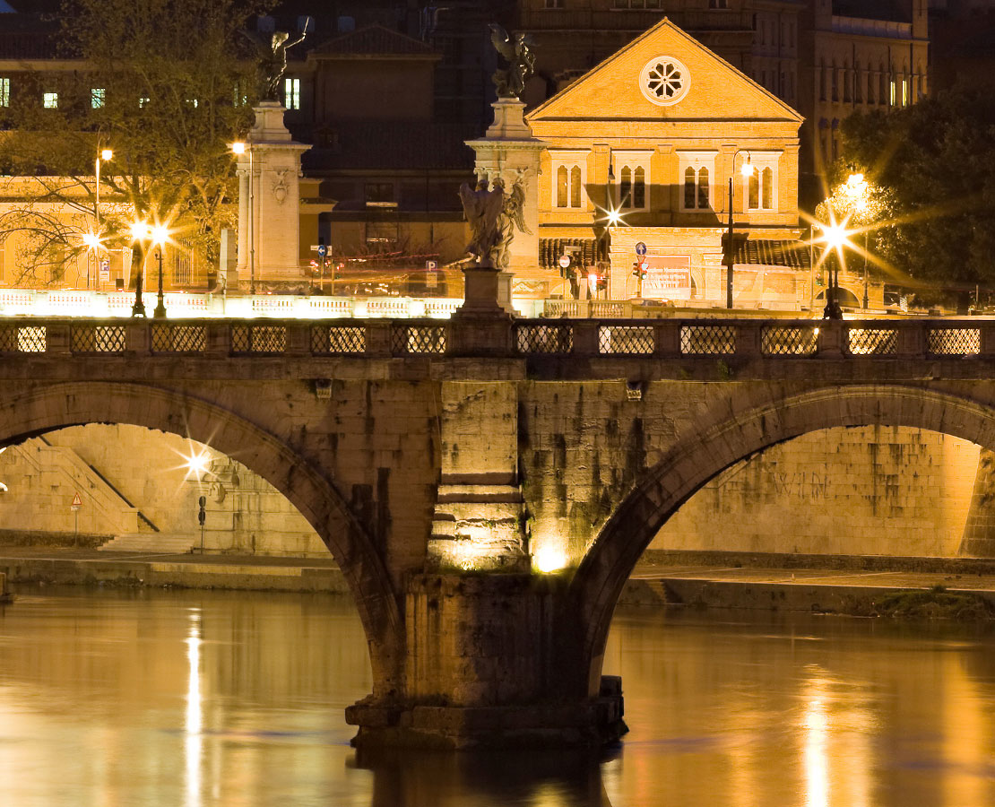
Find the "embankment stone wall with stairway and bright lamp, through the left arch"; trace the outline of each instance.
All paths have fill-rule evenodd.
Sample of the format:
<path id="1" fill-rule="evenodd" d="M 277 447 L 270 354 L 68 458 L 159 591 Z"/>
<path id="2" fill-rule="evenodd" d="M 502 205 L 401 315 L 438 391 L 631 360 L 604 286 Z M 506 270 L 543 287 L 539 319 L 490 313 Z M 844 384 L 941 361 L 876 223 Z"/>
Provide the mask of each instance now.
<path id="1" fill-rule="evenodd" d="M 205 454 L 204 471 L 188 459 Z M 298 510 L 241 463 L 200 443 L 127 425 L 50 432 L 0 454 L 0 529 L 97 535 L 144 533 L 200 541 L 200 496 L 208 550 L 325 556 Z M 71 507 L 80 495 L 79 511 Z M 144 515 L 147 521 L 138 513 Z"/>

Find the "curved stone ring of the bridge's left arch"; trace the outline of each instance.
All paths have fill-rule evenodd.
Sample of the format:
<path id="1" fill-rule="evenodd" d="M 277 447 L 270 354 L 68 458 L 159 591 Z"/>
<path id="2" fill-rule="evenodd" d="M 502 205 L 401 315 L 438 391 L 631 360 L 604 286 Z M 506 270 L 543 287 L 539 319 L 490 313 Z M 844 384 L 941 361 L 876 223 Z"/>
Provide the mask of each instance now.
<path id="1" fill-rule="evenodd" d="M 400 687 L 405 640 L 397 595 L 366 529 L 319 468 L 244 416 L 183 391 L 73 381 L 0 392 L 0 446 L 89 423 L 143 426 L 190 438 L 266 479 L 298 508 L 338 563 L 366 632 L 374 695 Z"/>

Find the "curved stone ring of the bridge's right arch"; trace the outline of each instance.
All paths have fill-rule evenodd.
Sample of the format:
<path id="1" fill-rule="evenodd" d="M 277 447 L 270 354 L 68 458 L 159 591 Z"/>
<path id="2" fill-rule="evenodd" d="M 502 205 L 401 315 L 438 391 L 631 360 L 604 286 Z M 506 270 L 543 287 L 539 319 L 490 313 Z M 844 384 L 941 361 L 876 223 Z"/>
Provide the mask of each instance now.
<path id="1" fill-rule="evenodd" d="M 995 448 L 991 404 L 927 387 L 830 386 L 765 401 L 733 392 L 721 416 L 698 420 L 612 513 L 570 584 L 587 694 L 597 694 L 615 605 L 643 551 L 678 508 L 717 474 L 750 455 L 833 427 L 907 426 Z"/>

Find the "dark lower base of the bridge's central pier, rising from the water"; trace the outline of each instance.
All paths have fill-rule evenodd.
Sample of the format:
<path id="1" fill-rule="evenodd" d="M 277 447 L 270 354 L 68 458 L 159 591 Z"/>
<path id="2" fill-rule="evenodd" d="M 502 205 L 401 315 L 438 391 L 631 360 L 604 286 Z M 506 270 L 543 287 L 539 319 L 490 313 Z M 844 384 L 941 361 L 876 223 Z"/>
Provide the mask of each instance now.
<path id="1" fill-rule="evenodd" d="M 621 682 L 594 697 L 578 675 L 565 577 L 420 574 L 406 596 L 406 695 L 346 709 L 353 744 L 432 748 L 588 746 L 618 739 Z"/>

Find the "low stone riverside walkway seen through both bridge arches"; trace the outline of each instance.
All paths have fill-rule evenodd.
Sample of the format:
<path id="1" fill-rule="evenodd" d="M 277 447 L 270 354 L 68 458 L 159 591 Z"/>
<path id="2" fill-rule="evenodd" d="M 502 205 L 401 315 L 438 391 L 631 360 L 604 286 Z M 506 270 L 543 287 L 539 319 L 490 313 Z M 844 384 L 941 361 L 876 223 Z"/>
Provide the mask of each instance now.
<path id="1" fill-rule="evenodd" d="M 680 563 L 637 566 L 622 592 L 622 605 L 701 605 L 714 608 L 760 608 L 799 611 L 843 610 L 855 597 L 874 598 L 907 589 L 943 586 L 950 592 L 980 594 L 995 603 L 995 561 L 961 558 L 815 558 L 758 555 L 697 557 Z M 724 559 L 721 565 L 715 561 Z M 709 560 L 709 562 L 702 562 Z M 809 565 L 768 565 L 797 560 Z M 934 571 L 889 570 L 896 567 Z M 816 562 L 827 567 L 814 568 Z M 843 565 L 844 568 L 830 568 Z M 862 566 L 871 566 L 863 568 Z M 65 546 L 0 546 L 0 574 L 7 583 L 63 583 L 122 586 L 175 586 L 262 591 L 348 594 L 345 579 L 331 555 L 270 557 L 236 554 L 147 554 L 100 552 Z"/>

